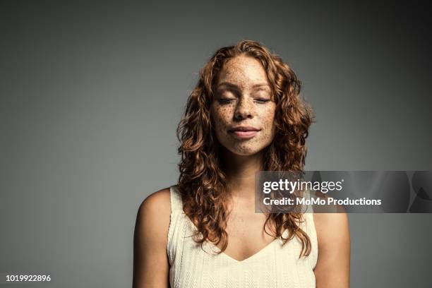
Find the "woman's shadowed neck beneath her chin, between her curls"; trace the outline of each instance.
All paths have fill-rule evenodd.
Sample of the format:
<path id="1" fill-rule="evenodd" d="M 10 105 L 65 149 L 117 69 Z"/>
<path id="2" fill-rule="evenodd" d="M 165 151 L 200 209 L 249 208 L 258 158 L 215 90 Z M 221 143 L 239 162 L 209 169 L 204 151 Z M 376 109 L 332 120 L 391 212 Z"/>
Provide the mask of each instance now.
<path id="1" fill-rule="evenodd" d="M 263 153 L 255 155 L 236 155 L 224 152 L 227 184 L 233 198 L 251 200 L 255 197 L 255 174 L 262 170 Z"/>

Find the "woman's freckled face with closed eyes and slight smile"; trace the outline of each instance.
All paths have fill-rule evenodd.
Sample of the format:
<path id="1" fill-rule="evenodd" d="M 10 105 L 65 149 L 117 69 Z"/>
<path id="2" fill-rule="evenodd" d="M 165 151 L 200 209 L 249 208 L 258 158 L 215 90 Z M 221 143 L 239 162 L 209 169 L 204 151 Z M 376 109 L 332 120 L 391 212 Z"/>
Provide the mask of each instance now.
<path id="1" fill-rule="evenodd" d="M 260 152 L 275 135 L 275 107 L 260 61 L 244 55 L 229 59 L 210 107 L 217 140 L 236 155 Z"/>

